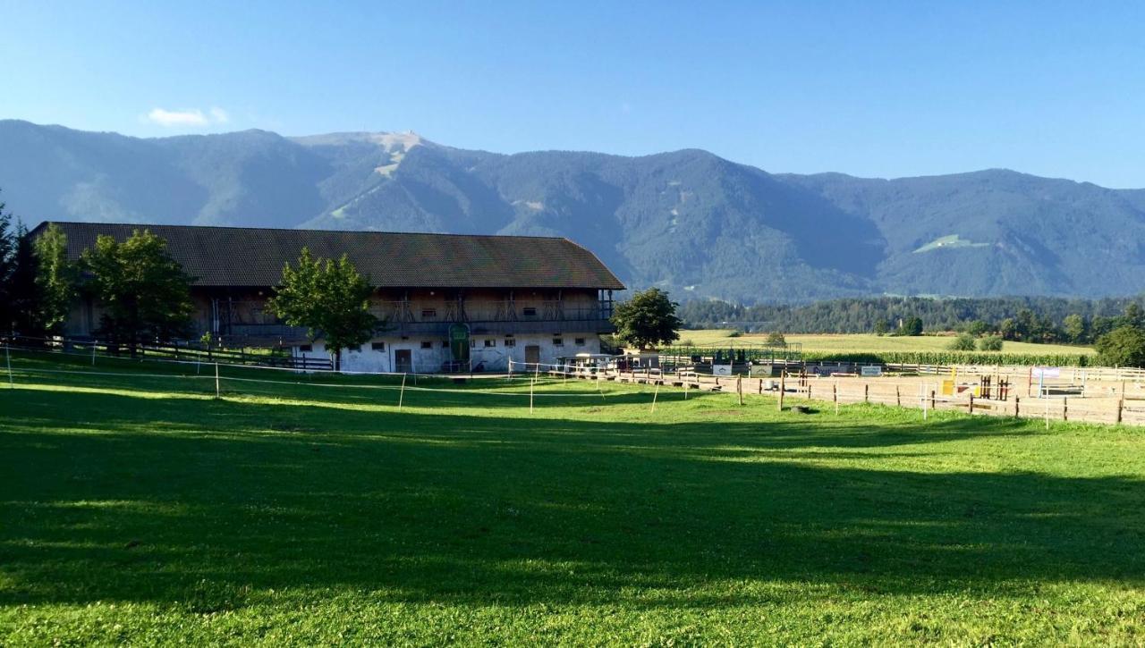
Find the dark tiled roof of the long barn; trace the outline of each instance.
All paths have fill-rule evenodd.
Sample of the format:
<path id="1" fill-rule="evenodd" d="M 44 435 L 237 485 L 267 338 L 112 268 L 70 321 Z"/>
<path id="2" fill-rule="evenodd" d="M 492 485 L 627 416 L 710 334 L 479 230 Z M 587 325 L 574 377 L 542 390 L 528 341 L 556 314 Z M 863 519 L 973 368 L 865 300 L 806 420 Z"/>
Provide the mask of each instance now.
<path id="1" fill-rule="evenodd" d="M 199 286 L 273 286 L 283 264 L 303 246 L 315 258 L 344 253 L 379 287 L 611 289 L 622 284 L 592 253 L 567 238 L 396 234 L 229 227 L 56 222 L 68 253 L 95 245 L 98 235 L 125 240 L 147 229 L 167 240 L 171 255 Z M 37 228 L 37 231 L 47 223 Z"/>

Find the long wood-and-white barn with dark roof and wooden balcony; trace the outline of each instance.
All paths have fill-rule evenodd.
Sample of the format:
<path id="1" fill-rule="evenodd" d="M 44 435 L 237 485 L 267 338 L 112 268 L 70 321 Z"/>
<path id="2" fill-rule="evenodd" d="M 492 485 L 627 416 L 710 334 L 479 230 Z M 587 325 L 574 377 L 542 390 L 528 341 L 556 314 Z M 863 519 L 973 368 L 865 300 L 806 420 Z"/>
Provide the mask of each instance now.
<path id="1" fill-rule="evenodd" d="M 33 235 L 48 223 L 40 224 Z M 98 235 L 127 239 L 148 229 L 195 277 L 195 337 L 229 345 L 282 346 L 323 357 L 321 338 L 284 325 L 266 302 L 302 247 L 316 258 L 347 254 L 376 286 L 371 310 L 386 330 L 344 351 L 354 371 L 504 371 L 508 359 L 552 362 L 599 353 L 611 332 L 613 291 L 624 285 L 597 256 L 566 238 L 392 234 L 223 227 L 56 223 L 78 259 Z M 93 338 L 100 303 L 73 309 L 65 334 Z M 465 347 L 468 347 L 467 349 Z M 467 353 L 466 353 L 467 351 Z"/>

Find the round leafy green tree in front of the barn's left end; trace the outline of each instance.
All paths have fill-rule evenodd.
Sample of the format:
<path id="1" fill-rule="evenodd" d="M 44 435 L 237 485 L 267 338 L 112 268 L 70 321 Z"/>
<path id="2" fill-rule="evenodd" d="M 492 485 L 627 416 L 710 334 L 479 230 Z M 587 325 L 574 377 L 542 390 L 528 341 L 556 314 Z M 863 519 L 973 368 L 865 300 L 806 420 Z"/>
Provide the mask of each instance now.
<path id="1" fill-rule="evenodd" d="M 167 254 L 166 240 L 148 230 L 124 243 L 100 236 L 80 267 L 90 275 L 85 290 L 103 306 L 96 334 L 109 342 L 126 343 L 134 356 L 140 342 L 187 333 L 191 277 Z"/>

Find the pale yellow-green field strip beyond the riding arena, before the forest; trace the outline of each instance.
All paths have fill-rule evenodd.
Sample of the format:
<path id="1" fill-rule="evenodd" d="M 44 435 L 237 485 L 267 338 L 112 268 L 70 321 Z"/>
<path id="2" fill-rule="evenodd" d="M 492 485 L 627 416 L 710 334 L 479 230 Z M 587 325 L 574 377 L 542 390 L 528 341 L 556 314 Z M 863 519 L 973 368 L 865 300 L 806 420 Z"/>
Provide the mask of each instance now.
<path id="1" fill-rule="evenodd" d="M 698 331 L 680 331 L 681 340 L 692 340 L 696 345 L 763 343 L 766 333 L 743 334 L 729 338 L 729 329 L 704 329 Z M 946 350 L 951 338 L 948 335 L 863 335 L 863 334 L 789 334 L 788 342 L 799 342 L 804 353 L 881 353 L 881 351 L 941 351 Z M 1003 342 L 1002 351 L 1006 354 L 1080 354 L 1095 353 L 1092 347 L 1072 345 L 1033 345 L 1029 342 Z"/>

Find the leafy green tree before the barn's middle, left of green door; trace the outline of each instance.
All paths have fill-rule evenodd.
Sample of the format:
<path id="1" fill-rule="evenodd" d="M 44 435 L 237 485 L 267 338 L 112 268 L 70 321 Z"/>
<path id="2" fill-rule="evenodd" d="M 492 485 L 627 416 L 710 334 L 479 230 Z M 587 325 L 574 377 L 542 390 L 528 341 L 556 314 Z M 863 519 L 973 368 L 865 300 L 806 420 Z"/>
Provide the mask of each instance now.
<path id="1" fill-rule="evenodd" d="M 283 268 L 282 283 L 267 306 L 290 326 L 306 326 L 311 340 L 325 341 L 334 369 L 342 349 L 370 341 L 381 322 L 370 313 L 373 287 L 342 254 L 338 262 L 313 259 L 302 248 L 298 268 Z"/>

